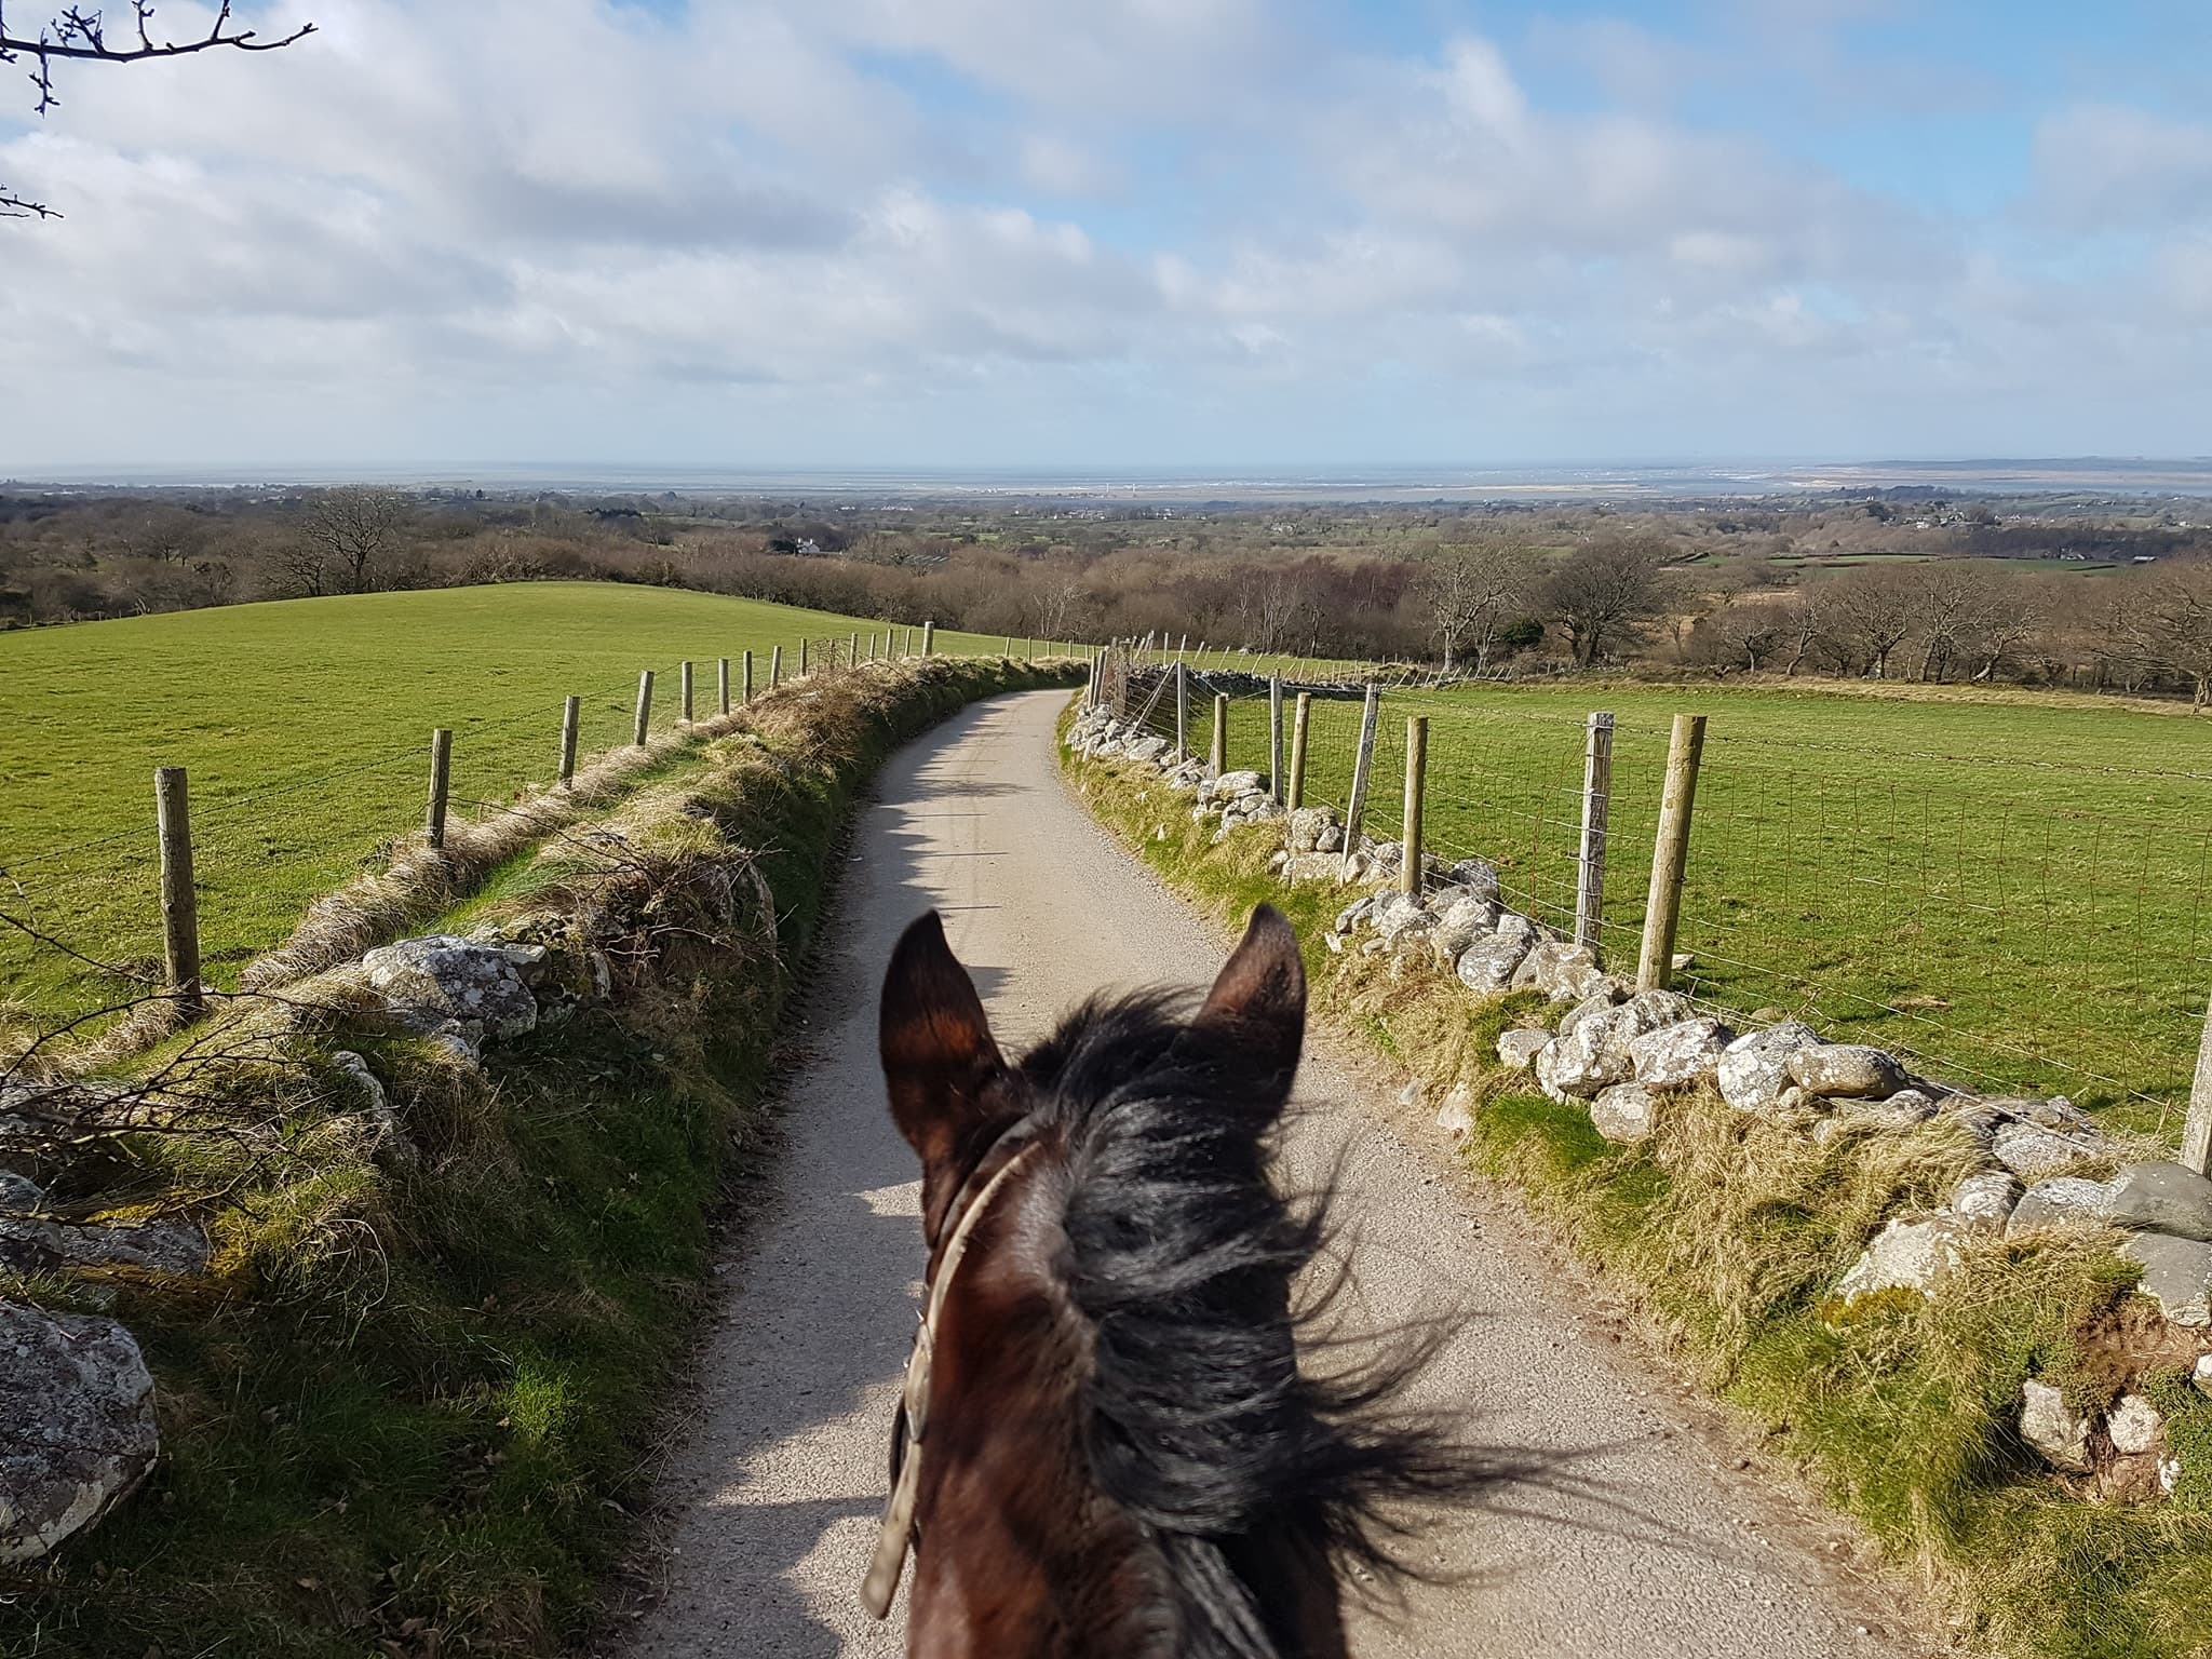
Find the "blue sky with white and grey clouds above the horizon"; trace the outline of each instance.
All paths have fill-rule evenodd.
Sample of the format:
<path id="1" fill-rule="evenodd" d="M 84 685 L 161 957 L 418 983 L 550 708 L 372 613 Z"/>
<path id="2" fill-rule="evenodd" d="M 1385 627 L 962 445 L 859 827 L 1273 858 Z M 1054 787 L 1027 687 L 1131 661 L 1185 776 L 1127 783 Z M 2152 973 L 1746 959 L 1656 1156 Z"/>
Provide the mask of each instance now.
<path id="1" fill-rule="evenodd" d="M 2203 0 L 243 11 L 9 80 L 0 476 L 2212 451 Z"/>

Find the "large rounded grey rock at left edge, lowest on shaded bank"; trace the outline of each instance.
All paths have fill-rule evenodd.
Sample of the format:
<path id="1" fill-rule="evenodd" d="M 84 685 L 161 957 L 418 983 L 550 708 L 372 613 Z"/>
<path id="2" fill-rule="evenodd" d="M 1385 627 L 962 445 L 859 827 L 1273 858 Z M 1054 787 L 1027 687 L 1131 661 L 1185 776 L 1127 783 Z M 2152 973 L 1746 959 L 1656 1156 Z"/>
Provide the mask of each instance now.
<path id="1" fill-rule="evenodd" d="M 153 1376 L 97 1314 L 0 1303 L 0 1564 L 33 1562 L 153 1467 Z"/>

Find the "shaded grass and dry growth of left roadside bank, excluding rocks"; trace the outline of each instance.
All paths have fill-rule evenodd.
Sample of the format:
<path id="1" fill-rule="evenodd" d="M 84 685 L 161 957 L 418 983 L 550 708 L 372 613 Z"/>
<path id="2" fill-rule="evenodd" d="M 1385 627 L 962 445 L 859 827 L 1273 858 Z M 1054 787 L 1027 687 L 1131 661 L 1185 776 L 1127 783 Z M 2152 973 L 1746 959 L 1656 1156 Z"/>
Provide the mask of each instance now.
<path id="1" fill-rule="evenodd" d="M 896 743 L 1051 679 L 938 659 L 770 701 L 467 902 L 458 920 L 551 949 L 571 1018 L 478 1071 L 327 973 L 290 991 L 312 1013 L 199 1073 L 252 1133 L 73 1170 L 108 1208 L 197 1208 L 215 1272 L 0 1274 L 0 1294 L 113 1310 L 164 1436 L 128 1504 L 0 1577 L 0 1652 L 427 1659 L 573 1637 L 692 1336 L 821 852 Z M 336 1051 L 367 1057 L 409 1155 L 376 1146 Z"/>

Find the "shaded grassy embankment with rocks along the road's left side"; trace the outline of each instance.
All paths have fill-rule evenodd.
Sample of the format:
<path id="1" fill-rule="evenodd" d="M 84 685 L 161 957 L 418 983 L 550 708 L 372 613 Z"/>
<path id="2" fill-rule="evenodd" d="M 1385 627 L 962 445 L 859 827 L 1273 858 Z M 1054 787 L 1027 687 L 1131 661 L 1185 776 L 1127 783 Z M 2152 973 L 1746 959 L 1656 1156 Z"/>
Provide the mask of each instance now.
<path id="1" fill-rule="evenodd" d="M 502 841 L 442 914 L 327 907 L 349 949 L 310 971 L 0 1086 L 0 1652 L 575 1635 L 856 792 L 1071 672 L 796 681 Z M 356 956 L 394 918 L 425 931 Z"/>

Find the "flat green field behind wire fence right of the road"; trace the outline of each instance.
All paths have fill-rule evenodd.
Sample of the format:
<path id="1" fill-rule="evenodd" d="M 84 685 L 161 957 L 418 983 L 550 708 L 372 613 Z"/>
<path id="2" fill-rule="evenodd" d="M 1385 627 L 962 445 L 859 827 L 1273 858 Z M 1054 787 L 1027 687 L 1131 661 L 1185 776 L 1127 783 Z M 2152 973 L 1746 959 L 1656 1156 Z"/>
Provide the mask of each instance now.
<path id="1" fill-rule="evenodd" d="M 1427 845 L 1573 925 L 1582 721 L 1617 717 L 1608 962 L 1635 969 L 1672 714 L 1708 717 L 1677 949 L 1730 1009 L 1781 1006 L 1940 1075 L 2172 1128 L 2212 991 L 2212 721 L 2064 695 L 1705 686 L 1391 692 L 1367 830 L 1398 834 L 1427 714 Z M 1356 701 L 1316 701 L 1310 801 L 1345 803 Z M 1155 710 L 1155 726 L 1172 717 Z M 1210 697 L 1194 699 L 1206 752 Z M 1265 770 L 1263 701 L 1230 761 Z"/>

